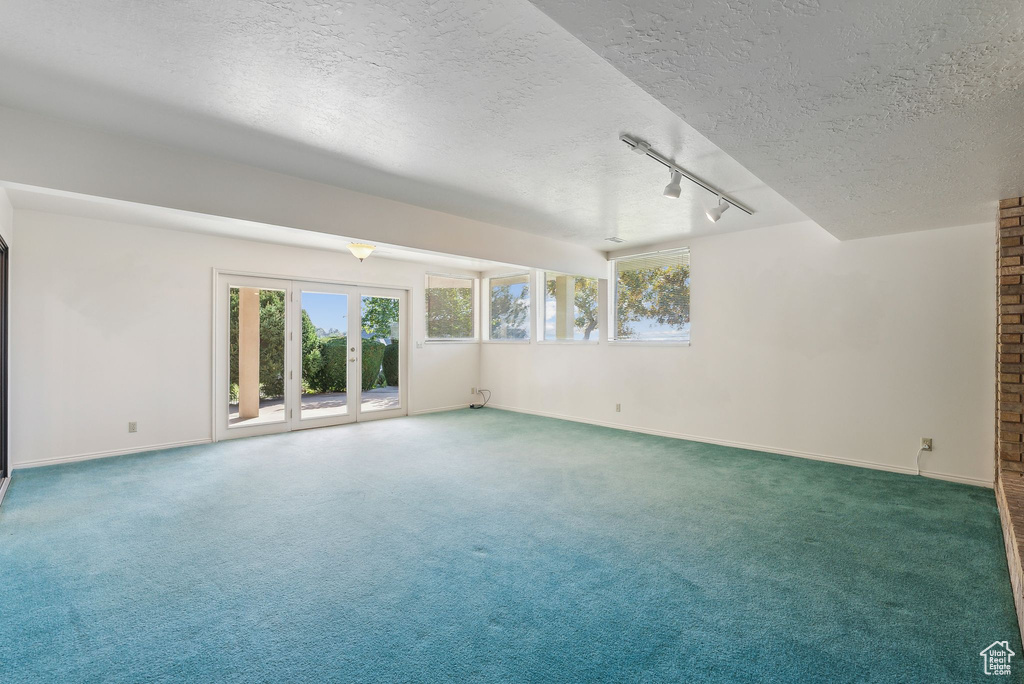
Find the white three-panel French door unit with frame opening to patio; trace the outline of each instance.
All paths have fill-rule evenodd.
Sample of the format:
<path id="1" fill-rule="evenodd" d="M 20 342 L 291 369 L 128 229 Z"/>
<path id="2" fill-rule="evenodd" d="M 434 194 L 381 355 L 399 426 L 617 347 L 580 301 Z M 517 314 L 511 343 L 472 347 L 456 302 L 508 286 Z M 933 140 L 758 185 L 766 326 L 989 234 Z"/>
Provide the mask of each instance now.
<path id="1" fill-rule="evenodd" d="M 220 273 L 217 439 L 408 413 L 408 292 Z"/>

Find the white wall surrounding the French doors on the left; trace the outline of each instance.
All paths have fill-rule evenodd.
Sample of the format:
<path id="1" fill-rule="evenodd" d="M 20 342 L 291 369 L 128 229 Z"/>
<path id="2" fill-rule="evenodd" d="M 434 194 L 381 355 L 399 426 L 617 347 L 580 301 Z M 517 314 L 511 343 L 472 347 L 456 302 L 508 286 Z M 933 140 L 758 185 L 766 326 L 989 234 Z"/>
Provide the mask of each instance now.
<path id="1" fill-rule="evenodd" d="M 14 468 L 211 438 L 214 267 L 410 288 L 424 337 L 436 268 L 33 211 L 14 221 Z M 411 412 L 472 400 L 479 345 L 410 347 Z"/>

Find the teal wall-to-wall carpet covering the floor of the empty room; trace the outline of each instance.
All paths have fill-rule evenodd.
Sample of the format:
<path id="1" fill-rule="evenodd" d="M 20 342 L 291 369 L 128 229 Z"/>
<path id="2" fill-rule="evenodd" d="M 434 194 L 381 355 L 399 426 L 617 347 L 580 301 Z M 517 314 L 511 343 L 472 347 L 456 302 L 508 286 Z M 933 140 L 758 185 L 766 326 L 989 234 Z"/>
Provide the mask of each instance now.
<path id="1" fill-rule="evenodd" d="M 991 682 L 1018 634 L 990 489 L 492 410 L 0 508 L 3 682 Z"/>

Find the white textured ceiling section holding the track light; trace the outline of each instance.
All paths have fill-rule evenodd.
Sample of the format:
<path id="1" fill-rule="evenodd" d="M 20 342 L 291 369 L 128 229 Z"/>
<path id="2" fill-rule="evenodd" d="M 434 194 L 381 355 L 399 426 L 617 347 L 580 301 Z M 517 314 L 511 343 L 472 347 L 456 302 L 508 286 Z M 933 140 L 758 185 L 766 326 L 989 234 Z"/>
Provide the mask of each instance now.
<path id="1" fill-rule="evenodd" d="M 806 219 L 526 0 L 0 0 L 0 104 L 598 249 Z M 756 214 L 713 225 L 706 191 L 660 197 L 668 172 L 624 132 Z"/>

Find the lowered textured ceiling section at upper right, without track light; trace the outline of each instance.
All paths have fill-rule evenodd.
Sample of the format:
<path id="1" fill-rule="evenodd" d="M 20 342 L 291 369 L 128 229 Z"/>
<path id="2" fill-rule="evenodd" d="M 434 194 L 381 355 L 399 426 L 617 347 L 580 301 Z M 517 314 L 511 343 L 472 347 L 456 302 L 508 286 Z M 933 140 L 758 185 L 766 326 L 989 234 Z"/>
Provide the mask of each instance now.
<path id="1" fill-rule="evenodd" d="M 1024 193 L 1020 0 L 531 0 L 842 239 Z"/>

